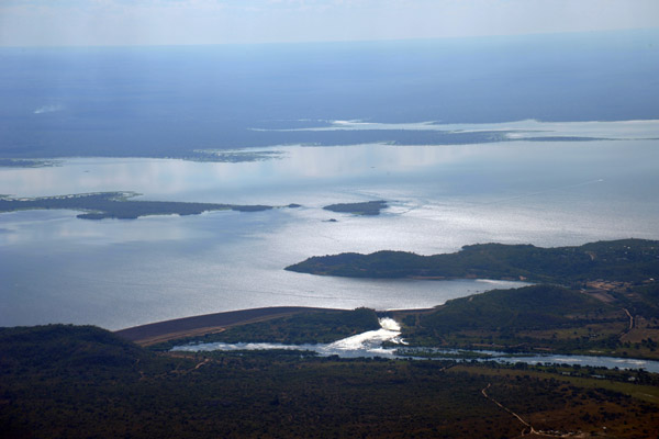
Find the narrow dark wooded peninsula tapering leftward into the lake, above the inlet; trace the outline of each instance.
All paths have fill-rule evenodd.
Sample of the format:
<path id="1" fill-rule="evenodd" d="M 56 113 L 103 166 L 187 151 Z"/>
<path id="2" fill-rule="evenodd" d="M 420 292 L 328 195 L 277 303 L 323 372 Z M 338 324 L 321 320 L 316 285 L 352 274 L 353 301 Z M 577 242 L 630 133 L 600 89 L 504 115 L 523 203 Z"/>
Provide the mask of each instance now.
<path id="1" fill-rule="evenodd" d="M 659 241 L 621 239 L 578 247 L 477 244 L 455 254 L 405 251 L 339 254 L 309 258 L 286 268 L 347 278 L 509 279 L 579 284 L 596 279 L 643 282 L 659 278 Z"/>

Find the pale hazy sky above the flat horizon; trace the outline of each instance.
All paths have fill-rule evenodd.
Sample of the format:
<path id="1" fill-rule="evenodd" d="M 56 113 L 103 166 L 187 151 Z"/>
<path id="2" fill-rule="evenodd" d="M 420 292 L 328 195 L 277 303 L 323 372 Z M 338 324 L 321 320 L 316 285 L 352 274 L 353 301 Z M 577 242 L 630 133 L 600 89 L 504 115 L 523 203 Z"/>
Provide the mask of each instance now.
<path id="1" fill-rule="evenodd" d="M 659 0 L 0 0 L 0 46 L 225 44 L 659 27 Z"/>

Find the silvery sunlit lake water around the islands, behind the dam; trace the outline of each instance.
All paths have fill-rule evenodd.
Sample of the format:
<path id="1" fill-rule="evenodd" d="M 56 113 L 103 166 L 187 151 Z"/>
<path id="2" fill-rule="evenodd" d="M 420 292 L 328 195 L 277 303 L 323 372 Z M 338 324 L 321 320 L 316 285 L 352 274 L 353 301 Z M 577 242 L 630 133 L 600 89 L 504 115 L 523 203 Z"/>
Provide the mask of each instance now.
<path id="1" fill-rule="evenodd" d="M 135 191 L 146 200 L 303 206 L 98 222 L 68 211 L 1 214 L 0 325 L 116 329 L 275 305 L 428 307 L 513 283 L 350 280 L 282 269 L 342 251 L 427 255 L 487 241 L 659 238 L 656 140 L 271 150 L 277 159 L 248 162 L 75 158 L 0 169 L 0 193 L 14 196 Z M 322 210 L 379 199 L 390 201 L 380 216 Z"/>

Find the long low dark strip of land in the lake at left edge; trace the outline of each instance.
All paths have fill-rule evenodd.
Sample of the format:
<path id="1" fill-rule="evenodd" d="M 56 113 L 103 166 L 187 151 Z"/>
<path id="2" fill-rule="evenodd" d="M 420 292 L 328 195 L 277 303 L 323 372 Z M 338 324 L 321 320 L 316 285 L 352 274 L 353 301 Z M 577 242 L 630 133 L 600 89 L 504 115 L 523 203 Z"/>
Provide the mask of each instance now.
<path id="1" fill-rule="evenodd" d="M 210 211 L 259 212 L 273 209 L 272 206 L 260 204 L 239 205 L 130 200 L 137 195 L 134 192 L 99 192 L 22 199 L 3 196 L 0 198 L 0 213 L 24 210 L 67 209 L 83 211 L 85 213 L 77 216 L 82 219 L 136 219 L 148 215 L 198 215 Z"/>

